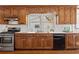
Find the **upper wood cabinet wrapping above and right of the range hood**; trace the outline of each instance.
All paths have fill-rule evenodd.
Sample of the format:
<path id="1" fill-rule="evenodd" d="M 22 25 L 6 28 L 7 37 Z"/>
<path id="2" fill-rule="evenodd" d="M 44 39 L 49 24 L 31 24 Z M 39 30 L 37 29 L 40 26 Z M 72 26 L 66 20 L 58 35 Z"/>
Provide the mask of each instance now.
<path id="1" fill-rule="evenodd" d="M 4 7 L 4 17 L 18 17 L 19 24 L 26 24 L 26 8 Z"/>

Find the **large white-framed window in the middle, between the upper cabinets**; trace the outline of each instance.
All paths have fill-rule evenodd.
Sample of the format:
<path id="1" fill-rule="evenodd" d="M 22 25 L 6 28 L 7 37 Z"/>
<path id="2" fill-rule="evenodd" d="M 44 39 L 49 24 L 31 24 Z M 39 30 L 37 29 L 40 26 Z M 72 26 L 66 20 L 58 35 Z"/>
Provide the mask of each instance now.
<path id="1" fill-rule="evenodd" d="M 53 13 L 28 15 L 28 28 L 31 32 L 50 32 L 55 24 L 56 15 Z"/>

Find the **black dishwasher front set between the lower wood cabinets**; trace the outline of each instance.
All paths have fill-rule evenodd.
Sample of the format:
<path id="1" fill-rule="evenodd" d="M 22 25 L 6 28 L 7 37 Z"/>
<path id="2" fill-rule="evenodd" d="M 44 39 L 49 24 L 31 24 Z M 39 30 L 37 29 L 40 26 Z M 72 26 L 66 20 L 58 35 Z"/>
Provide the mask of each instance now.
<path id="1" fill-rule="evenodd" d="M 53 49 L 64 50 L 65 49 L 65 34 L 55 33 L 53 34 Z"/>

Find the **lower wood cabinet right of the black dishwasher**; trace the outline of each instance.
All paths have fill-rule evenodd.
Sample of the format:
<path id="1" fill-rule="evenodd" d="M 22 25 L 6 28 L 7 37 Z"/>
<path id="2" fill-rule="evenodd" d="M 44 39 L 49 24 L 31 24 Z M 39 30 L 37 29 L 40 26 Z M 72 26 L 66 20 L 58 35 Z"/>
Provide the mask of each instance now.
<path id="1" fill-rule="evenodd" d="M 66 37 L 66 48 L 79 49 L 79 33 L 69 34 Z"/>

